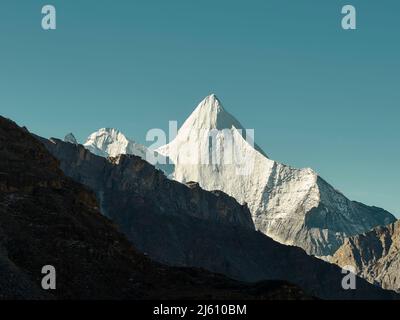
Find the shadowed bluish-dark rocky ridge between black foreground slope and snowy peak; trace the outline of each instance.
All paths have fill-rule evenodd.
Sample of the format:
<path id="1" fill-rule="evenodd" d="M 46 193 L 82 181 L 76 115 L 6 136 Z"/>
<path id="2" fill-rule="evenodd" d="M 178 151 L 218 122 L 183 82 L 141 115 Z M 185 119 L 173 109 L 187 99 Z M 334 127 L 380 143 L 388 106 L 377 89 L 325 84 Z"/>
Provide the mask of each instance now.
<path id="1" fill-rule="evenodd" d="M 257 281 L 285 279 L 310 295 L 328 299 L 389 298 L 359 279 L 341 287 L 341 269 L 254 231 L 246 206 L 195 183 L 180 184 L 135 156 L 105 159 L 82 146 L 41 139 L 62 170 L 93 189 L 103 213 L 150 257 Z"/>

